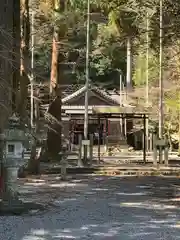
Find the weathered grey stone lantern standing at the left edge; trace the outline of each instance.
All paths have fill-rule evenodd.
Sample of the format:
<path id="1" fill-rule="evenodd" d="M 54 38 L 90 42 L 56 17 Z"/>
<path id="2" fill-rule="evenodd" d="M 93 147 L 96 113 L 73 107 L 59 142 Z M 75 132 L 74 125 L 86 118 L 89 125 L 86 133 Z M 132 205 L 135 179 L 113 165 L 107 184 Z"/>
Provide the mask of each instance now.
<path id="1" fill-rule="evenodd" d="M 1 134 L 2 135 L 2 134 Z M 3 192 L 0 211 L 19 208 L 21 201 L 17 192 L 17 173 L 24 164 L 24 142 L 27 141 L 25 132 L 20 128 L 19 119 L 13 116 L 9 119 L 8 128 L 5 129 L 3 138 Z"/>

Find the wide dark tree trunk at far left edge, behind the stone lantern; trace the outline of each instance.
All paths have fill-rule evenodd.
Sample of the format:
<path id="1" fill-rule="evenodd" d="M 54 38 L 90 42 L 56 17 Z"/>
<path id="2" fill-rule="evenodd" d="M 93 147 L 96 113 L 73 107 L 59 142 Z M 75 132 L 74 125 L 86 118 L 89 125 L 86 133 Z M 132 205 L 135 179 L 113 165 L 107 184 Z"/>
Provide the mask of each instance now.
<path id="1" fill-rule="evenodd" d="M 4 129 L 8 122 L 8 117 L 12 109 L 12 78 L 13 78 L 13 50 L 14 50 L 14 34 L 13 34 L 13 14 L 14 1 L 1 0 L 0 8 L 0 134 L 4 133 Z M 4 144 L 0 144 L 0 163 L 1 174 L 3 177 L 2 186 L 3 193 L 6 192 L 6 176 L 3 165 Z"/>

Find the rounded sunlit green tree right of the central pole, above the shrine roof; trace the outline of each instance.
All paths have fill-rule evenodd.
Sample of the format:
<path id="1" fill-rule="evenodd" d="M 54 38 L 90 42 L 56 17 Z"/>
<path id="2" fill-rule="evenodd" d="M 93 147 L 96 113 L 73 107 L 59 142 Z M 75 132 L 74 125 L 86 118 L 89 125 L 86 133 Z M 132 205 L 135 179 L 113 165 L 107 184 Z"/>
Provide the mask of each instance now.
<path id="1" fill-rule="evenodd" d="M 119 86 L 119 72 L 125 74 L 126 50 L 123 42 L 110 28 L 99 26 L 98 37 L 93 42 L 91 54 L 91 79 L 104 87 L 115 88 Z"/>

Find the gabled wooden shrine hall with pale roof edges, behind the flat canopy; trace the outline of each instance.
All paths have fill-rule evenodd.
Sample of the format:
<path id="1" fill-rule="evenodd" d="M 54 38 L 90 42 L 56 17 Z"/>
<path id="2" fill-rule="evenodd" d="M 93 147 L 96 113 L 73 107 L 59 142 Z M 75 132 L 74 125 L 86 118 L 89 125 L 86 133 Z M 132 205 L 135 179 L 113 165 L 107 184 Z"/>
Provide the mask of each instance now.
<path id="1" fill-rule="evenodd" d="M 65 136 L 68 135 L 67 131 L 69 132 L 69 136 L 71 135 L 71 139 L 73 140 L 74 144 L 78 143 L 78 135 L 83 135 L 84 131 L 84 113 L 85 113 L 85 106 L 84 106 L 84 94 L 86 88 L 82 87 L 81 89 L 77 90 L 71 95 L 62 99 L 62 112 L 68 116 L 68 120 L 63 121 L 63 133 Z M 118 107 L 120 104 L 120 96 L 118 93 L 109 93 L 105 92 L 102 89 L 97 87 L 91 86 L 88 92 L 89 102 L 88 102 L 88 113 L 89 113 L 89 121 L 88 121 L 88 131 L 89 135 L 94 134 L 98 135 L 98 128 L 101 128 L 101 132 L 108 131 L 108 135 L 112 135 L 113 132 L 120 135 L 120 129 L 117 129 L 119 126 L 119 121 L 105 121 L 102 120 L 100 125 L 98 123 L 97 117 L 93 116 L 92 109 L 94 107 Z M 126 122 L 126 132 L 132 129 L 132 121 Z M 125 128 L 125 127 L 124 127 Z M 97 138 L 94 136 L 95 142 L 97 144 Z M 103 142 L 103 136 L 100 136 L 101 144 Z"/>

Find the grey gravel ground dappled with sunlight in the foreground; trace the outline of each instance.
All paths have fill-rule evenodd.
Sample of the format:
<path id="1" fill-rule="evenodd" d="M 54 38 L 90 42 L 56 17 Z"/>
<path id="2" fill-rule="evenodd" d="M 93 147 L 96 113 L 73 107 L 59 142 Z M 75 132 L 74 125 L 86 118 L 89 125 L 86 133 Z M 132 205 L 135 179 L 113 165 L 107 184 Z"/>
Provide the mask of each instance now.
<path id="1" fill-rule="evenodd" d="M 36 195 L 51 206 L 0 216 L 0 240 L 180 239 L 177 178 L 76 176 L 61 182 L 53 176 L 21 184 L 24 198 Z"/>

